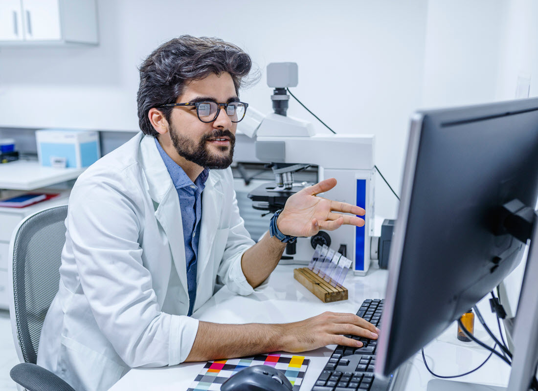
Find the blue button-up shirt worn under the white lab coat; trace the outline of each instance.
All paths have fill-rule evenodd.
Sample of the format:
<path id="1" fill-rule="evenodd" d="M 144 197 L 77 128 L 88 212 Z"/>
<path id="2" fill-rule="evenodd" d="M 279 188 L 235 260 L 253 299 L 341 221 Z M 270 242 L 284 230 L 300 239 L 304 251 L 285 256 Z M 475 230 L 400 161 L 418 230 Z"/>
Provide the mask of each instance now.
<path id="1" fill-rule="evenodd" d="M 183 223 L 183 241 L 185 241 L 185 261 L 187 264 L 187 285 L 189 292 L 189 312 L 192 315 L 196 299 L 196 258 L 200 238 L 200 220 L 202 218 L 202 191 L 206 187 L 209 170 L 202 171 L 196 180 L 191 181 L 185 171 L 162 149 L 157 138 L 155 144 L 178 191 Z"/>

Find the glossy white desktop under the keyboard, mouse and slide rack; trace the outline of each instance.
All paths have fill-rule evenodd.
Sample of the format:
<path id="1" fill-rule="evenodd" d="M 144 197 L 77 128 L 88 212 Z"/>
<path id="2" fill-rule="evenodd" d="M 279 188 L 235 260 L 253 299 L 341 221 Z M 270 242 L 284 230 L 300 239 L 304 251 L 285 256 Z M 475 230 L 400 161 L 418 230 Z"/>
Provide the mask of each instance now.
<path id="1" fill-rule="evenodd" d="M 355 313 L 366 298 L 385 296 L 387 272 L 374 268 L 365 277 L 348 275 L 344 285 L 349 290 L 349 300 L 325 304 L 293 279 L 295 267 L 297 266 L 278 266 L 271 275 L 268 286 L 251 296 L 238 296 L 223 288 L 193 316 L 201 321 L 218 323 L 286 323 L 300 321 L 323 311 Z M 494 318 L 490 316 L 489 304 L 484 302 L 479 304 L 479 307 L 491 328 Z M 424 311 L 424 316 L 427 316 L 427 311 Z M 475 322 L 475 336 L 493 346 L 491 338 L 487 337 L 478 319 Z M 331 345 L 310 352 L 296 353 L 310 359 L 301 391 L 312 389 L 334 348 L 335 346 Z M 430 343 L 425 351 L 430 368 L 444 375 L 467 372 L 481 364 L 489 354 L 474 343 L 458 341 L 455 325 Z M 110 391 L 183 391 L 190 386 L 204 364 L 206 363 L 131 369 Z M 426 390 L 427 383 L 433 376 L 424 367 L 420 353 L 410 360 L 409 367 L 405 390 Z M 509 368 L 504 362 L 492 357 L 479 371 L 455 380 L 506 386 L 508 371 Z"/>

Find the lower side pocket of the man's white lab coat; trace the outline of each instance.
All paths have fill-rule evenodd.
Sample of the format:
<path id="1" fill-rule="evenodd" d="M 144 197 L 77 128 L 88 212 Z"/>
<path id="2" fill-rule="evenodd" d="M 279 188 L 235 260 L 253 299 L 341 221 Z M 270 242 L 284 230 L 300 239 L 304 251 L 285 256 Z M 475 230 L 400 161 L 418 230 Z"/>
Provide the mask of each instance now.
<path id="1" fill-rule="evenodd" d="M 108 389 L 129 371 L 129 367 L 64 336 L 61 337 L 58 357 L 60 376 L 76 390 Z"/>

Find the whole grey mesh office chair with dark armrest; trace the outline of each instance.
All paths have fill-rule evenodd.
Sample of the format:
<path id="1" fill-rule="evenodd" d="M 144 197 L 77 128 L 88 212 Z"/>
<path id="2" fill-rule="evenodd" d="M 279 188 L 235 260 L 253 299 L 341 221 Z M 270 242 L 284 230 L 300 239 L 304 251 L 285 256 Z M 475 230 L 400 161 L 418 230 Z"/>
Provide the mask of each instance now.
<path id="1" fill-rule="evenodd" d="M 22 364 L 10 371 L 28 391 L 75 391 L 47 369 L 36 365 L 39 337 L 60 282 L 67 205 L 41 210 L 24 219 L 10 243 L 10 318 L 15 349 Z"/>

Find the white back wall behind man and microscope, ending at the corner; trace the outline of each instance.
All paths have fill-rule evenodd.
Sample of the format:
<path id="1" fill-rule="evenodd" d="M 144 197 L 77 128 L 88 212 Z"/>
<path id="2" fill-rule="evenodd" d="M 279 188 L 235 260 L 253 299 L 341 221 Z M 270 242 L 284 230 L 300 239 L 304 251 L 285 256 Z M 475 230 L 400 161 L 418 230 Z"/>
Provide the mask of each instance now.
<path id="1" fill-rule="evenodd" d="M 97 47 L 0 48 L 0 126 L 138 129 L 139 63 L 180 34 L 217 36 L 263 71 L 242 94 L 263 113 L 271 111 L 267 63 L 298 62 L 296 96 L 336 132 L 376 134 L 377 165 L 398 191 L 408 117 L 421 97 L 426 0 L 97 3 Z M 334 114 L 336 101 L 348 115 Z M 327 131 L 290 106 L 289 115 Z M 395 197 L 377 184 L 378 214 L 395 216 Z"/>

